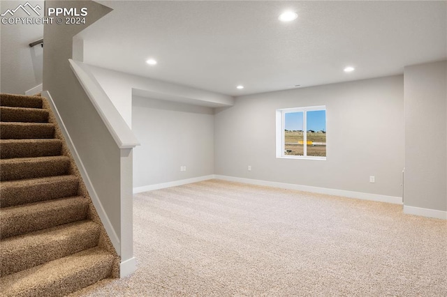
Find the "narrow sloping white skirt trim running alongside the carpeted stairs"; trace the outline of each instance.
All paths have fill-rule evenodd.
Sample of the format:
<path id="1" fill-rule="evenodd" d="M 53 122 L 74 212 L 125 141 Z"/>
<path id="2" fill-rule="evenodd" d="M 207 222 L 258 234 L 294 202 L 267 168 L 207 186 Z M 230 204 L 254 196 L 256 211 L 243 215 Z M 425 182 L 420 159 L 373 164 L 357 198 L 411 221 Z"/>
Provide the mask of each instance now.
<path id="1" fill-rule="evenodd" d="M 115 229 L 112 227 L 112 223 L 110 222 L 108 215 L 105 212 L 105 209 L 103 208 L 103 204 L 101 204 L 101 200 L 99 199 L 98 195 L 96 194 L 94 186 L 90 181 L 89 175 L 87 174 L 87 171 L 85 170 L 84 164 L 82 163 L 82 160 L 80 159 L 80 157 L 78 155 L 78 151 L 76 151 L 75 145 L 73 144 L 73 141 L 71 140 L 71 137 L 68 134 L 68 131 L 64 125 L 64 121 L 62 121 L 59 111 L 57 110 L 56 105 L 54 105 L 54 101 L 50 95 L 50 92 L 43 91 L 42 96 L 47 98 L 48 102 L 50 103 L 50 107 L 54 113 L 54 117 L 56 118 L 59 128 L 61 129 L 61 132 L 65 137 L 66 144 L 71 151 L 71 155 L 73 155 L 73 159 L 75 160 L 75 163 L 78 166 L 79 172 L 82 176 L 82 181 L 84 181 L 85 186 L 87 187 L 87 190 L 89 191 L 89 195 L 90 195 L 91 201 L 93 202 L 93 205 L 96 208 L 96 212 L 98 213 L 99 218 L 101 219 L 101 222 L 103 223 L 105 231 L 107 232 L 107 234 L 110 238 L 110 241 L 112 242 L 113 247 L 117 251 L 117 254 L 120 255 L 121 254 L 121 249 L 120 249 L 121 244 L 119 241 L 119 237 L 117 236 Z"/>

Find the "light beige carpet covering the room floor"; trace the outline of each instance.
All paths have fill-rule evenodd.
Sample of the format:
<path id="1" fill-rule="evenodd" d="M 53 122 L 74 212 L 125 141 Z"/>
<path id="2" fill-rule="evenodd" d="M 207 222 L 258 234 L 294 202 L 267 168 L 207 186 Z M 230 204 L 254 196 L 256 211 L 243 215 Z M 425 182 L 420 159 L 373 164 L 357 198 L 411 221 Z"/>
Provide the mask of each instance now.
<path id="1" fill-rule="evenodd" d="M 204 181 L 135 195 L 137 271 L 72 296 L 447 296 L 447 222 Z"/>

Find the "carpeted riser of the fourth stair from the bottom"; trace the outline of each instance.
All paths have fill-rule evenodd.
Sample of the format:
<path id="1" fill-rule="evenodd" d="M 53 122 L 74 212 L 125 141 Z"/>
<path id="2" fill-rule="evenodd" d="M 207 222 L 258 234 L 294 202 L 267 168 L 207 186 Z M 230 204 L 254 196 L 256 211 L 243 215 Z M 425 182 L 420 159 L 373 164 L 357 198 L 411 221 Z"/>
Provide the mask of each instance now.
<path id="1" fill-rule="evenodd" d="M 71 197 L 78 194 L 78 179 L 0 188 L 0 207 Z"/>

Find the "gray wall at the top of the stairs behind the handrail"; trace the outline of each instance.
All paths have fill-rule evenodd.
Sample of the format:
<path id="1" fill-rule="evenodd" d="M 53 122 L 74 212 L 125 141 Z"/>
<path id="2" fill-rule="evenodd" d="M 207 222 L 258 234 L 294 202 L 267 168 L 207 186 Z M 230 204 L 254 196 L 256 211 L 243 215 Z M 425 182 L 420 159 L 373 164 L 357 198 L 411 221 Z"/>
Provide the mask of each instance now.
<path id="1" fill-rule="evenodd" d="M 0 1 L 0 12 L 14 9 L 26 1 Z M 33 7 L 44 1 L 29 1 Z M 38 10 L 39 11 L 39 10 Z M 23 10 L 17 10 L 15 17 L 28 17 Z M 32 13 L 31 17 L 34 17 Z M 2 93 L 24 94 L 42 84 L 43 48 L 29 43 L 43 38 L 43 24 L 0 24 L 0 91 Z"/>

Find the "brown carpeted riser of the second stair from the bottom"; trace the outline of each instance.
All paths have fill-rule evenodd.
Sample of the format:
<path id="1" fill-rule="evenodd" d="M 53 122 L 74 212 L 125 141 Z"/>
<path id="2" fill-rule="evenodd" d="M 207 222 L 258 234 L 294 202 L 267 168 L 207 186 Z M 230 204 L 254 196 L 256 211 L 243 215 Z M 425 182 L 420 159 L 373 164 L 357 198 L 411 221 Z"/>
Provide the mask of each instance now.
<path id="1" fill-rule="evenodd" d="M 45 235 L 43 235 L 45 236 Z M 32 245 L 26 250 L 0 250 L 2 261 L 1 275 L 5 276 L 18 271 L 47 263 L 49 261 L 75 254 L 82 250 L 94 248 L 99 240 L 99 227 L 77 230 L 71 234 L 61 234 L 57 238 L 47 238 L 39 245 Z M 39 242 L 40 243 L 40 242 Z"/>

